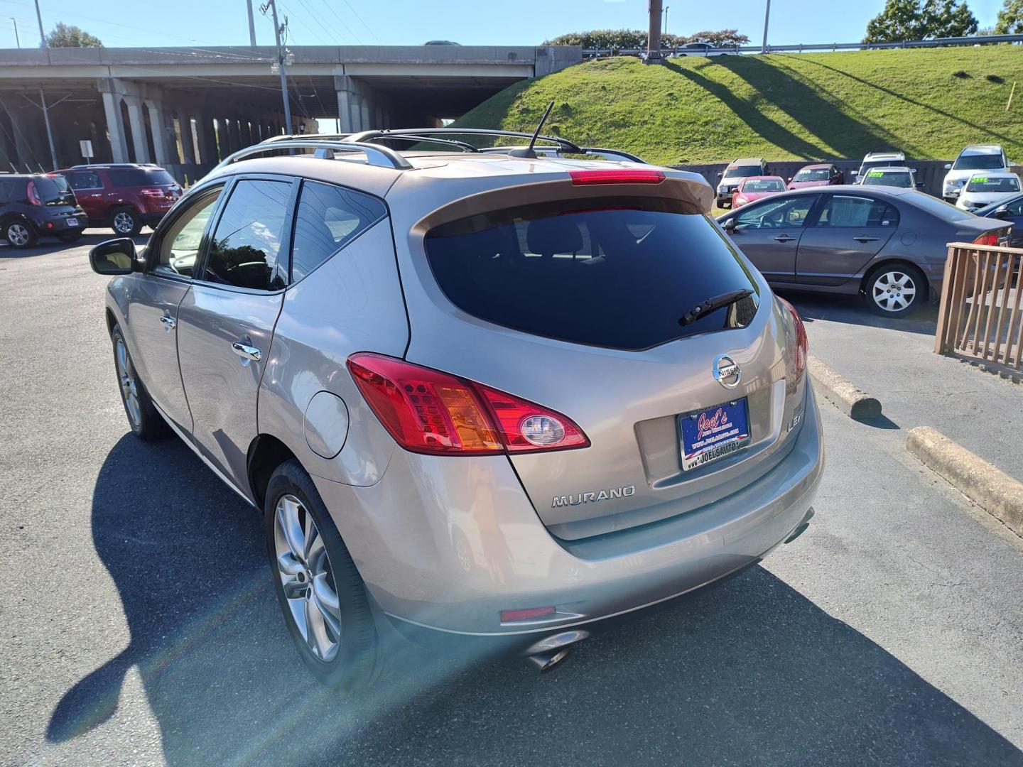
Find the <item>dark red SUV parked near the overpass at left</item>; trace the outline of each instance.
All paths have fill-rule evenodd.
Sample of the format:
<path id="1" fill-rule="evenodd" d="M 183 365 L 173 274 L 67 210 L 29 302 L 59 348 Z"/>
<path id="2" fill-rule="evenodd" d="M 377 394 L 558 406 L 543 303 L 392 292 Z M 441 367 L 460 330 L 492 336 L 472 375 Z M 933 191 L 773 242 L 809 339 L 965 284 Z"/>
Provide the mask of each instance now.
<path id="1" fill-rule="evenodd" d="M 90 226 L 108 226 L 123 236 L 159 224 L 182 193 L 171 174 L 155 165 L 77 165 L 57 173 L 75 190 Z"/>

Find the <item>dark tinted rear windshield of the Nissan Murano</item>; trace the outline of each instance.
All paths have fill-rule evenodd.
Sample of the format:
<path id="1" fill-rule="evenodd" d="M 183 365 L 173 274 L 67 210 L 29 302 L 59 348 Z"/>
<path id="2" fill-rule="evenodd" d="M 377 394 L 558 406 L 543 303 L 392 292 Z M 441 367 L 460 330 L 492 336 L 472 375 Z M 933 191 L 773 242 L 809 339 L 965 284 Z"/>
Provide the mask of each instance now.
<path id="1" fill-rule="evenodd" d="M 489 322 L 579 344 L 638 350 L 743 327 L 756 283 L 717 227 L 680 200 L 602 197 L 507 209 L 426 239 L 447 298 Z M 751 291 L 680 320 L 708 299 Z"/>

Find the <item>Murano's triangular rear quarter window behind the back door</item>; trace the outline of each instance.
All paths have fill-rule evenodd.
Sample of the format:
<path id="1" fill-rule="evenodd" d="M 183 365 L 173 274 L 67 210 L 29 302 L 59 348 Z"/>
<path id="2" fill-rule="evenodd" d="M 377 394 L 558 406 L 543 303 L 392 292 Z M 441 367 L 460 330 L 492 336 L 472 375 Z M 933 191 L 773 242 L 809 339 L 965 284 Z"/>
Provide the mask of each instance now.
<path id="1" fill-rule="evenodd" d="M 306 181 L 292 246 L 292 279 L 300 280 L 387 214 L 368 194 Z"/>

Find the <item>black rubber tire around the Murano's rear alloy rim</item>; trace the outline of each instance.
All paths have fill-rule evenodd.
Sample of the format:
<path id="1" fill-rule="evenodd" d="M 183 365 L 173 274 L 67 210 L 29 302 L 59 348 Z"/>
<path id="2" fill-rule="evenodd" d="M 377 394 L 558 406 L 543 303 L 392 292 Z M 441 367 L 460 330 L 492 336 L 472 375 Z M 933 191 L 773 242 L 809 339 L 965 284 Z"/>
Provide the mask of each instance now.
<path id="1" fill-rule="evenodd" d="M 314 655 L 303 638 L 292 616 L 278 570 L 275 521 L 277 504 L 287 495 L 298 498 L 303 512 L 312 516 L 326 549 L 327 568 L 338 595 L 341 615 L 337 655 L 329 661 Z M 380 640 L 365 583 L 323 505 L 316 486 L 297 460 L 284 461 L 270 476 L 263 504 L 263 520 L 274 593 L 277 594 L 284 623 L 302 662 L 319 681 L 335 691 L 352 692 L 368 685 L 377 670 Z"/>

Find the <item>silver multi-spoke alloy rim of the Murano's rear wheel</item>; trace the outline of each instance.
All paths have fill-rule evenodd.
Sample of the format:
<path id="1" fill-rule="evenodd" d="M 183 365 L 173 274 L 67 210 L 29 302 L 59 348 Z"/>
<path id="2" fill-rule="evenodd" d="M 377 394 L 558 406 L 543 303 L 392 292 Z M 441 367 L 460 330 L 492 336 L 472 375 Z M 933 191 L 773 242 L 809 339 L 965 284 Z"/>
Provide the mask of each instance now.
<path id="1" fill-rule="evenodd" d="M 342 630 L 333 571 L 312 514 L 294 495 L 277 501 L 273 540 L 292 620 L 310 652 L 332 661 Z"/>

